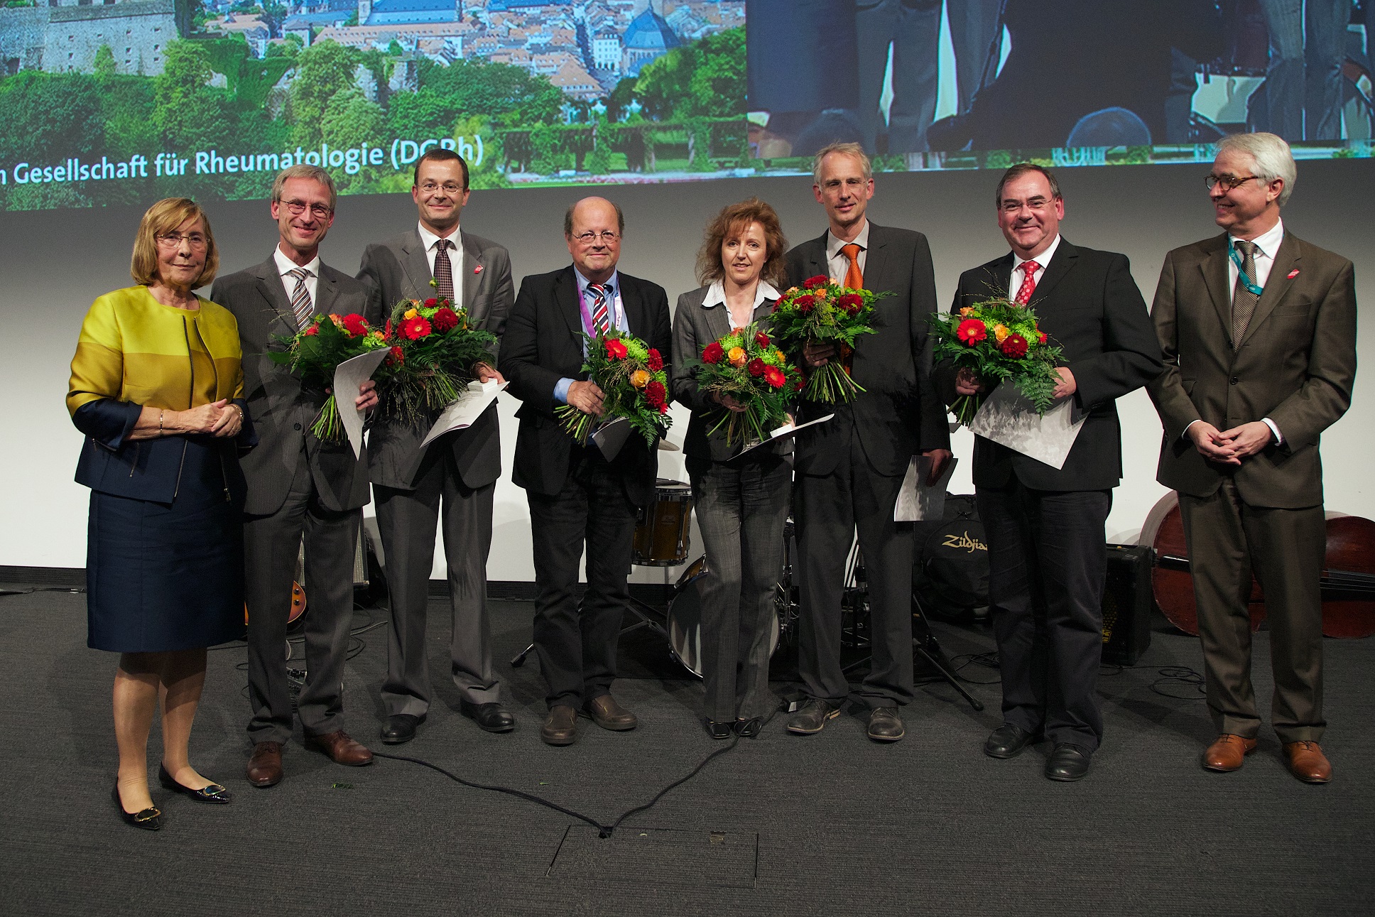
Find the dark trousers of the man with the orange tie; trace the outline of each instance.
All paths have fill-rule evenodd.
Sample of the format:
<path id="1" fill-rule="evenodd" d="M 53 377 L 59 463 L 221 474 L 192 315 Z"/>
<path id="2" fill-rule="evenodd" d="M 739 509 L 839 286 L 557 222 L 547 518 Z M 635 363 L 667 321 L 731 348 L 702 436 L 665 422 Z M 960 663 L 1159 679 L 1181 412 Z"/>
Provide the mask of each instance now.
<path id="1" fill-rule="evenodd" d="M 912 700 L 910 522 L 894 522 L 902 476 L 879 474 L 851 433 L 850 456 L 830 474 L 799 474 L 793 494 L 802 620 L 798 671 L 810 697 L 832 704 L 850 694 L 840 668 L 840 599 L 846 557 L 859 533 L 869 573 L 869 674 L 857 694 L 873 707 Z"/>

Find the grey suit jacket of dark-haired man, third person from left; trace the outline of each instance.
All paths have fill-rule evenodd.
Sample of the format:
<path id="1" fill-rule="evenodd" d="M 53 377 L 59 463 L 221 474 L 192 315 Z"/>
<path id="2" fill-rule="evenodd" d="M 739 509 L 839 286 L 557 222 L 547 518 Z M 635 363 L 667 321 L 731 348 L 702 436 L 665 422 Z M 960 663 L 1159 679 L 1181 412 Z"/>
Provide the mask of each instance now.
<path id="1" fill-rule="evenodd" d="M 498 338 L 506 330 L 514 291 L 510 254 L 500 245 L 459 230 L 462 258 L 454 265 L 454 280 L 462 286 L 462 307 L 480 329 Z M 429 260 L 421 234 L 410 230 L 385 242 L 368 245 L 358 279 L 381 296 L 382 308 L 390 312 L 402 300 L 426 300 L 434 296 L 430 286 Z M 496 366 L 492 353 L 492 366 Z M 412 489 L 415 473 L 425 458 L 419 448 L 433 418 L 424 423 L 404 423 L 400 418 L 380 415 L 368 434 L 368 472 L 373 483 L 397 489 Z M 502 444 L 494 403 L 466 430 L 448 433 L 430 443 L 429 450 L 450 450 L 463 484 L 485 487 L 502 474 Z"/>

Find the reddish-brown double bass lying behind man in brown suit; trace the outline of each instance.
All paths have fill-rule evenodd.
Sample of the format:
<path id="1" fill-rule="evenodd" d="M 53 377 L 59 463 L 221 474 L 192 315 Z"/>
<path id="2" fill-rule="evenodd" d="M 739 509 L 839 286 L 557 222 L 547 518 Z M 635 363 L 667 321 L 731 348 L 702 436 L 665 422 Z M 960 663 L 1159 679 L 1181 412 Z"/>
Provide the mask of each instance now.
<path id="1" fill-rule="evenodd" d="M 1180 500 L 1170 491 L 1151 507 L 1141 527 L 1141 544 L 1155 550 L 1151 591 L 1166 620 L 1185 634 L 1198 635 L 1198 606 Z M 1323 634 L 1326 637 L 1370 637 L 1375 634 L 1375 521 L 1360 516 L 1328 514 L 1327 554 L 1320 584 L 1323 590 Z M 1265 597 L 1251 577 L 1248 610 L 1251 630 L 1265 620 Z"/>

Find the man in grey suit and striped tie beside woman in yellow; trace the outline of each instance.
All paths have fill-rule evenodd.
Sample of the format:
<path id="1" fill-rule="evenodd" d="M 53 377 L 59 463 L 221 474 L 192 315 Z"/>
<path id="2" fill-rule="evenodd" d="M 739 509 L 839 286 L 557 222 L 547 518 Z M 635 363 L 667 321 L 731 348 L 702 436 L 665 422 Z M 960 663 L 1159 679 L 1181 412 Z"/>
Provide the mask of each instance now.
<path id="1" fill-rule="evenodd" d="M 307 676 L 297 698 L 305 744 L 340 764 L 370 764 L 373 753 L 344 731 L 344 659 L 353 617 L 353 553 L 367 503 L 367 456 L 348 443 L 322 443 L 311 422 L 326 393 L 301 385 L 268 359 L 278 335 L 292 335 L 319 313 L 381 318 L 377 296 L 320 261 L 334 223 L 334 180 L 319 166 L 282 170 L 272 184 L 279 242 L 263 264 L 214 282 L 210 298 L 239 323 L 243 390 L 258 448 L 242 459 L 245 595 L 249 615 L 248 778 L 254 786 L 282 780 L 282 747 L 292 737 L 286 678 L 286 623 L 296 558 L 305 539 Z M 355 404 L 377 404 L 364 382 Z M 346 406 L 344 410 L 348 410 Z"/>

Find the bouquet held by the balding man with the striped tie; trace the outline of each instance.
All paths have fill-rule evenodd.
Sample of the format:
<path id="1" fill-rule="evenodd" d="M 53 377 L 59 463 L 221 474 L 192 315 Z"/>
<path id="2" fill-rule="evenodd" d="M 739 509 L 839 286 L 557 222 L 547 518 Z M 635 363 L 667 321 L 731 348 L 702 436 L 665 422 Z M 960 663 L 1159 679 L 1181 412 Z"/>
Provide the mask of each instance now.
<path id="1" fill-rule="evenodd" d="M 626 418 L 645 437 L 645 443 L 653 445 L 672 423 L 668 417 L 668 373 L 664 371 L 664 357 L 639 338 L 615 329 L 583 337 L 587 340 L 583 370 L 602 390 L 602 417 Z M 554 414 L 569 436 L 579 444 L 587 443 L 597 418 L 583 414 L 572 404 L 560 406 Z"/>

